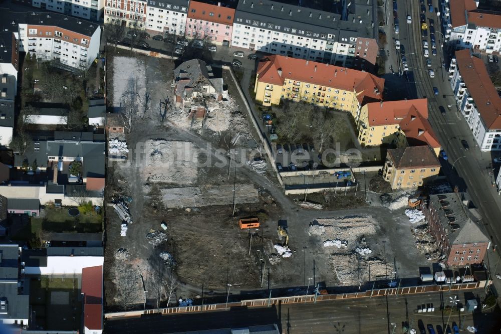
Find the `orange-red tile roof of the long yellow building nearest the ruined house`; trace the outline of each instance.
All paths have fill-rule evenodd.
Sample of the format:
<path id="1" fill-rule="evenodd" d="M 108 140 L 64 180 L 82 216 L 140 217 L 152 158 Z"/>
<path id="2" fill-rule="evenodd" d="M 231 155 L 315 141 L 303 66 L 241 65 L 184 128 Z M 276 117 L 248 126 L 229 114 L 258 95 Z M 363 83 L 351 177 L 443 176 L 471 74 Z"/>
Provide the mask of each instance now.
<path id="1" fill-rule="evenodd" d="M 284 85 L 287 78 L 355 91 L 359 101 L 366 97 L 381 99 L 384 88 L 384 79 L 367 72 L 280 55 L 268 56 L 260 62 L 258 76 L 260 82 L 274 85 Z M 375 92 L 376 88 L 378 93 Z"/>

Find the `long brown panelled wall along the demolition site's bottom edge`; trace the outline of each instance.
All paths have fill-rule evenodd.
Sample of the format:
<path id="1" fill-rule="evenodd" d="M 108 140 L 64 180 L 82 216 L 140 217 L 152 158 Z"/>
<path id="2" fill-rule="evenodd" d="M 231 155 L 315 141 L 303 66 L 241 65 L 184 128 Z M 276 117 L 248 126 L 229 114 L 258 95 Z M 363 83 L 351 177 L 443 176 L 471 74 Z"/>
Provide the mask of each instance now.
<path id="1" fill-rule="evenodd" d="M 155 309 L 146 309 L 138 311 L 126 311 L 126 312 L 110 312 L 110 313 L 105 313 L 104 317 L 106 319 L 112 320 L 123 317 L 133 317 L 133 316 L 137 317 L 143 314 L 158 314 L 158 313 L 180 314 L 180 313 L 190 313 L 190 312 L 224 310 L 224 309 L 229 309 L 230 307 L 270 307 L 278 304 L 313 303 L 325 300 L 374 298 L 382 296 L 398 296 L 398 295 L 440 292 L 440 291 L 448 292 L 448 291 L 459 291 L 459 290 L 471 290 L 476 288 L 483 288 L 485 287 L 485 285 L 486 285 L 485 281 L 477 281 L 464 284 L 418 285 L 409 287 L 382 288 L 382 289 L 372 289 L 372 290 L 350 292 L 350 293 L 324 294 L 317 296 L 315 296 L 315 294 L 310 294 L 310 295 L 291 296 L 291 297 L 272 297 L 263 299 L 230 301 L 227 304 L 219 303 L 219 304 L 192 305 L 183 307 L 155 308 Z"/>

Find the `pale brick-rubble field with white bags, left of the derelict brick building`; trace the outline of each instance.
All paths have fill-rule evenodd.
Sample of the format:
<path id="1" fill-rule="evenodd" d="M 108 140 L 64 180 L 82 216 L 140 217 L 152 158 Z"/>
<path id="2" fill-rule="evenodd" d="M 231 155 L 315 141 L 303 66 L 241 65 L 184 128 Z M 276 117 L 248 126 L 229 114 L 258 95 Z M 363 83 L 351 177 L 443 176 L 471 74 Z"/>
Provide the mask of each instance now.
<path id="1" fill-rule="evenodd" d="M 320 237 L 340 285 L 360 284 L 369 280 L 369 276 L 385 276 L 392 271 L 383 260 L 369 257 L 372 251 L 366 237 L 376 232 L 376 222 L 371 216 L 317 219 L 308 230 L 310 236 Z"/>

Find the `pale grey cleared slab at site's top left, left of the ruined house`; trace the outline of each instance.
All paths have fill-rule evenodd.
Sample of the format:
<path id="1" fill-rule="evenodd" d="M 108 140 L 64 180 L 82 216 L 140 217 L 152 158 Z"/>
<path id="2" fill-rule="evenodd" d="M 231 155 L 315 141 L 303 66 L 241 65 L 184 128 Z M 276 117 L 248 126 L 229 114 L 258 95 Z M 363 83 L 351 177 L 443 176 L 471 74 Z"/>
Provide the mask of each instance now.
<path id="1" fill-rule="evenodd" d="M 146 68 L 141 59 L 113 58 L 113 106 L 119 107 L 124 92 L 135 89 L 138 96 L 146 92 Z"/>

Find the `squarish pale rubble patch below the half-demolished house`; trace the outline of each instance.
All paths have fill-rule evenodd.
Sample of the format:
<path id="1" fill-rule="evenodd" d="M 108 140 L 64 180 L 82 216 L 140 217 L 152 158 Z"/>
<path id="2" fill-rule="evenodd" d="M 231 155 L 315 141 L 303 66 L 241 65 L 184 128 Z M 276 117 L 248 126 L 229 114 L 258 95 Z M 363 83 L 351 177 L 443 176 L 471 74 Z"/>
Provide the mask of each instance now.
<path id="1" fill-rule="evenodd" d="M 196 182 L 199 149 L 192 142 L 150 139 L 144 152 L 144 181 L 179 186 Z"/>

